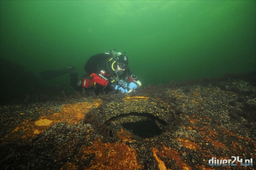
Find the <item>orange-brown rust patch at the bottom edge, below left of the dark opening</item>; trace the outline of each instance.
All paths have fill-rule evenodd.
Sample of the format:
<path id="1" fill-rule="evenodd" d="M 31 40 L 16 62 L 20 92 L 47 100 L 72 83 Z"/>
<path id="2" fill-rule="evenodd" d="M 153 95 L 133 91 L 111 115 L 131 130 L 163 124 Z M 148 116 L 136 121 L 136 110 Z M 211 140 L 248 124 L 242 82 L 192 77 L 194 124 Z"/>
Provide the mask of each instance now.
<path id="1" fill-rule="evenodd" d="M 89 166 L 84 167 L 84 169 L 132 170 L 142 168 L 137 162 L 136 150 L 121 142 L 102 143 L 96 140 L 92 146 L 84 146 L 84 156 L 82 156 L 82 159 L 84 161 L 87 160 L 91 154 L 95 155 L 95 157 Z"/>

